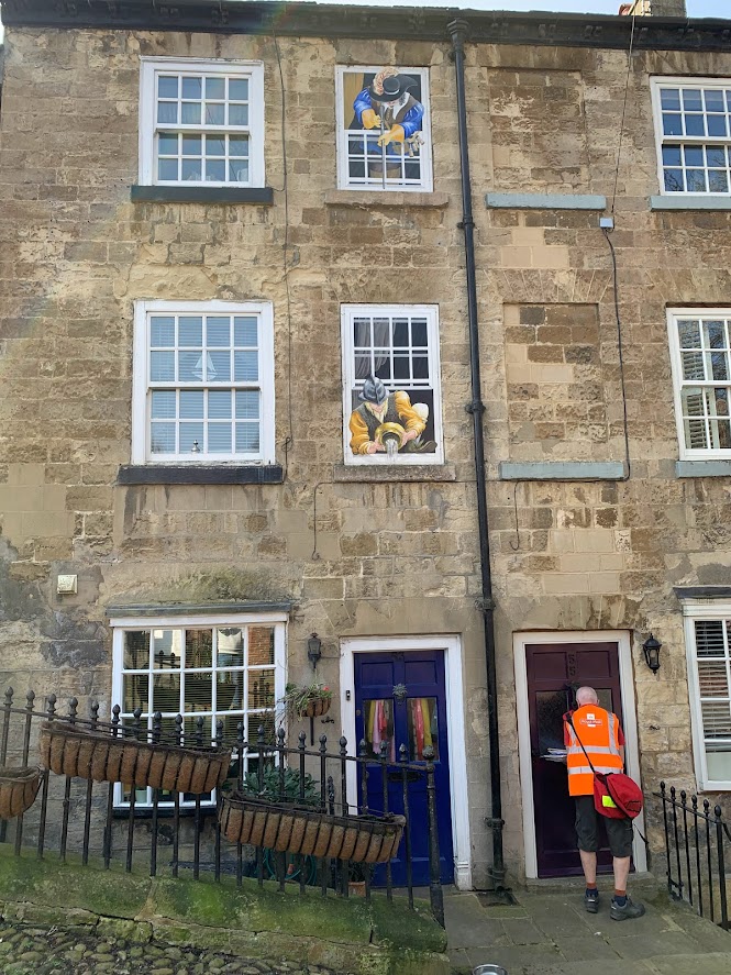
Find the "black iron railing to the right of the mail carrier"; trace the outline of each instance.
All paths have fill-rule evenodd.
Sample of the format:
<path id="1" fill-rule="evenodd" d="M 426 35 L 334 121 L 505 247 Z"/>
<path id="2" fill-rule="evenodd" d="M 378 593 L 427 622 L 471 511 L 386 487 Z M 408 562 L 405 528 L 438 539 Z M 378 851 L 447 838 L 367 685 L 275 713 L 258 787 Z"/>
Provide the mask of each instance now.
<path id="1" fill-rule="evenodd" d="M 654 793 L 663 807 L 667 890 L 686 900 L 701 917 L 729 931 L 731 832 L 720 806 L 661 782 Z"/>

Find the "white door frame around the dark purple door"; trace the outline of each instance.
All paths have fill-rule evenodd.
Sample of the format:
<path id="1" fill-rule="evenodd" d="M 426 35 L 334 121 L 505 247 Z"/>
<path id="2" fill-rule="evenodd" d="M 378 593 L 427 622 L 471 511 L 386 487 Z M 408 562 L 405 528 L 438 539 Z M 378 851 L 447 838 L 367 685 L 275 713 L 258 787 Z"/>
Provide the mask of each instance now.
<path id="1" fill-rule="evenodd" d="M 520 782 L 523 799 L 523 840 L 525 844 L 525 876 L 536 878 L 538 851 L 535 849 L 535 821 L 533 819 L 533 771 L 531 767 L 531 729 L 528 717 L 528 669 L 525 665 L 525 645 L 529 643 L 617 643 L 619 651 L 619 683 L 622 694 L 622 711 L 624 716 L 624 757 L 628 775 L 641 784 L 640 749 L 638 744 L 638 713 L 634 701 L 634 675 L 632 669 L 632 649 L 630 634 L 627 630 L 591 630 L 580 632 L 534 632 L 514 633 L 513 652 L 516 660 L 516 707 L 518 711 L 518 754 L 520 761 Z M 646 833 L 644 812 L 634 820 L 638 829 Z M 638 873 L 647 869 L 647 855 L 644 843 L 634 831 L 632 855 Z"/>

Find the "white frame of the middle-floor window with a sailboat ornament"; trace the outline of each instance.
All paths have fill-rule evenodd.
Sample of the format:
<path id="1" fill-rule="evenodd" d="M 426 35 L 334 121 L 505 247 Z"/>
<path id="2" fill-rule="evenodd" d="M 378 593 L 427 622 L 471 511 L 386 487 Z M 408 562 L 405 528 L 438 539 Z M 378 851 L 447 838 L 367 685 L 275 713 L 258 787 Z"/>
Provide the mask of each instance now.
<path id="1" fill-rule="evenodd" d="M 153 454 L 149 418 L 149 319 L 153 314 L 255 314 L 259 319 L 261 419 L 259 453 L 252 454 Z M 241 384 L 231 381 L 230 388 Z M 251 388 L 252 384 L 248 384 Z M 182 388 L 178 384 L 176 388 Z M 245 384 L 244 384 L 245 387 Z M 173 386 L 170 387 L 173 388 Z M 215 388 L 203 386 L 197 388 Z M 134 340 L 132 368 L 132 463 L 191 465 L 258 465 L 275 461 L 274 396 L 274 311 L 268 301 L 147 301 L 134 302 Z"/>

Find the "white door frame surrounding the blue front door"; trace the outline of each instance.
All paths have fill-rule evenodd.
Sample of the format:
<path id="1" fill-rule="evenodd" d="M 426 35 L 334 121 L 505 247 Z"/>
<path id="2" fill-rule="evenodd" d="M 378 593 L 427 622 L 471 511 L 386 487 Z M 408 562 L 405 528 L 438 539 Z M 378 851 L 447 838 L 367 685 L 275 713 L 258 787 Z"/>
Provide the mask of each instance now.
<path id="1" fill-rule="evenodd" d="M 459 890 L 472 890 L 469 856 L 469 806 L 467 802 L 467 749 L 465 741 L 462 641 L 459 636 L 363 636 L 341 640 L 340 713 L 342 733 L 355 742 L 356 653 L 402 653 L 410 650 L 443 650 L 446 685 L 447 744 L 450 750 L 450 798 L 454 844 L 454 883 Z M 348 762 L 348 795 L 357 795 L 356 769 Z"/>

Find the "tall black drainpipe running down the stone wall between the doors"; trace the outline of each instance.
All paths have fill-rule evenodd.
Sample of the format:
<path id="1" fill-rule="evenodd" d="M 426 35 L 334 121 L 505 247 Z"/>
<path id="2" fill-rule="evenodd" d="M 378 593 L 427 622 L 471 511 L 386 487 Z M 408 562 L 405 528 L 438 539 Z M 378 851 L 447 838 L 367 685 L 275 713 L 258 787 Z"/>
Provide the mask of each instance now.
<path id="1" fill-rule="evenodd" d="M 465 265 L 467 268 L 467 315 L 469 320 L 469 367 L 472 374 L 472 413 L 475 439 L 475 480 L 477 486 L 477 523 L 479 528 L 479 561 L 483 575 L 480 609 L 485 632 L 485 665 L 487 669 L 487 727 L 490 744 L 490 797 L 491 816 L 487 824 L 492 830 L 492 866 L 490 876 L 495 889 L 505 890 L 505 863 L 502 860 L 502 795 L 500 789 L 500 749 L 498 741 L 498 687 L 495 668 L 495 603 L 490 573 L 490 541 L 487 523 L 487 485 L 485 478 L 485 435 L 483 413 L 485 403 L 479 379 L 479 329 L 477 324 L 477 287 L 475 282 L 475 221 L 472 215 L 472 188 L 469 185 L 469 154 L 467 151 L 467 110 L 465 107 L 465 41 L 469 24 L 454 20 L 447 24 L 452 38 L 453 58 L 457 80 L 457 114 L 459 122 L 459 159 L 462 164 L 462 223 L 465 233 Z"/>

